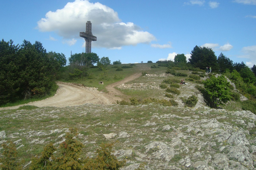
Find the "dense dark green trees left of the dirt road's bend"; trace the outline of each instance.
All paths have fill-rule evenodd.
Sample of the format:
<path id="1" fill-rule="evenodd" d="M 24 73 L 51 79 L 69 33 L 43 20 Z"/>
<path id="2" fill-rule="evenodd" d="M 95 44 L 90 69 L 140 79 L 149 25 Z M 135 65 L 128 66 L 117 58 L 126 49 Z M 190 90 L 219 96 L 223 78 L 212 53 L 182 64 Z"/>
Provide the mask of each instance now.
<path id="1" fill-rule="evenodd" d="M 42 96 L 50 91 L 60 67 L 66 65 L 64 54 L 46 52 L 41 42 L 21 45 L 0 41 L 0 103 Z"/>

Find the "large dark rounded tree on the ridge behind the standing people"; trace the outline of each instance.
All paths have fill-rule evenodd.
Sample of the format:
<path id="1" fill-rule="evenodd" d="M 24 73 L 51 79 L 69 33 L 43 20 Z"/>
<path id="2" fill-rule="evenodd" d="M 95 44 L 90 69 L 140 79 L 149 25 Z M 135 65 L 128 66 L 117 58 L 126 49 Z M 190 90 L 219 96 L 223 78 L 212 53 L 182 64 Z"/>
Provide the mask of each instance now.
<path id="1" fill-rule="evenodd" d="M 212 71 L 218 71 L 217 57 L 214 51 L 208 47 L 195 46 L 191 51 L 191 56 L 188 59 L 192 66 L 200 69 L 211 67 Z"/>

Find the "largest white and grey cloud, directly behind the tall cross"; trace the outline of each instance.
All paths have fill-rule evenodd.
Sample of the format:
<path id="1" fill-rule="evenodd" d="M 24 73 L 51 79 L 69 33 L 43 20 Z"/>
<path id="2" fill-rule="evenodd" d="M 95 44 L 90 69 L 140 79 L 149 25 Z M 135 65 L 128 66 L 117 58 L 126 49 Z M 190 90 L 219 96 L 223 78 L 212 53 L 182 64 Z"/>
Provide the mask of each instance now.
<path id="1" fill-rule="evenodd" d="M 88 20 L 92 23 L 93 35 L 97 37 L 97 41 L 93 42 L 96 47 L 120 49 L 124 45 L 156 40 L 154 35 L 132 22 L 121 22 L 113 9 L 87 0 L 75 0 L 55 12 L 47 12 L 45 18 L 37 22 L 37 29 L 41 32 L 56 32 L 64 42 L 72 42 L 73 39 L 82 39 L 79 32 L 85 31 Z"/>

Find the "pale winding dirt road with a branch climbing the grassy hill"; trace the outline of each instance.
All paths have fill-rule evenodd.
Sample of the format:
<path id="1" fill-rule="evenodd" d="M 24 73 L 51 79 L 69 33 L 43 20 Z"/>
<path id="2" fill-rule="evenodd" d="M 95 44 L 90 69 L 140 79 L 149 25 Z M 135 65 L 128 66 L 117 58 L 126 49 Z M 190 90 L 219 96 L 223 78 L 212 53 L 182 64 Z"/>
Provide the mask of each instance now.
<path id="1" fill-rule="evenodd" d="M 96 88 L 79 86 L 72 83 L 58 82 L 59 89 L 55 96 L 36 102 L 30 102 L 24 105 L 0 108 L 0 110 L 18 109 L 21 106 L 30 105 L 37 107 L 67 107 L 77 106 L 85 103 L 93 104 L 112 104 L 117 100 L 122 100 L 124 95 L 115 89 L 116 86 L 127 83 L 141 76 L 141 73 L 135 73 L 121 81 L 106 86 L 107 93 L 99 92 Z"/>

